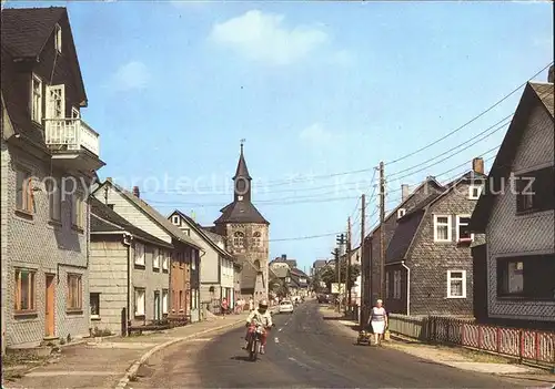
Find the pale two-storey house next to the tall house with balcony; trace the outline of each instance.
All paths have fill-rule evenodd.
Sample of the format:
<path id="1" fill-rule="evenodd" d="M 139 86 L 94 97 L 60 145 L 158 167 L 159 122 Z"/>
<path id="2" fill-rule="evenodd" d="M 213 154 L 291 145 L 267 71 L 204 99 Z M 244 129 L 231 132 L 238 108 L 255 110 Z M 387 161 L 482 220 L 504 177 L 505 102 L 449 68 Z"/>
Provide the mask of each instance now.
<path id="1" fill-rule="evenodd" d="M 122 308 L 132 326 L 163 319 L 169 313 L 172 244 L 133 226 L 95 197 L 89 204 L 91 328 L 121 335 Z"/>

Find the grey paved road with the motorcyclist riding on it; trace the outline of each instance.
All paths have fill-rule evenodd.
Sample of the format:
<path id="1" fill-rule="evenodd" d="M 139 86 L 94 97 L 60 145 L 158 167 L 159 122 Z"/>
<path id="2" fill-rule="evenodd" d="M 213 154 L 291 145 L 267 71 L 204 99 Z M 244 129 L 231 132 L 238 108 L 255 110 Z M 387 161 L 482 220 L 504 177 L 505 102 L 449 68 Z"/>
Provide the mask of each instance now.
<path id="1" fill-rule="evenodd" d="M 315 303 L 274 316 L 268 352 L 241 350 L 244 329 L 175 345 L 149 360 L 131 388 L 517 388 L 538 382 L 463 371 L 397 350 L 353 345 Z"/>

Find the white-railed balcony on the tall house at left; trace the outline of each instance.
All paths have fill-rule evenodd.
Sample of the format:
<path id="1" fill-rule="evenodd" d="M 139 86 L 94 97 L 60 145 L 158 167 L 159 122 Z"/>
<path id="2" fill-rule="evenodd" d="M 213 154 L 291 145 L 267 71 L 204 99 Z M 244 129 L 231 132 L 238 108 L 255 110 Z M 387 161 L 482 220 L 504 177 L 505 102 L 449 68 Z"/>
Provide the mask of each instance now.
<path id="1" fill-rule="evenodd" d="M 82 119 L 47 119 L 44 141 L 52 158 L 75 168 L 97 170 L 100 161 L 100 136 Z"/>

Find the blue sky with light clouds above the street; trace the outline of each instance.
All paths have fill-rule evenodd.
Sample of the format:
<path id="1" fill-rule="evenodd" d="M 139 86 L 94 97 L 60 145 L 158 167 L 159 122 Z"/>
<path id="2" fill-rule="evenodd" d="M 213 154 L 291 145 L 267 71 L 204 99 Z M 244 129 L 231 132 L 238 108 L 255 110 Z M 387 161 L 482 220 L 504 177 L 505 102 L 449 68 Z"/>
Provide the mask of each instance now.
<path id="1" fill-rule="evenodd" d="M 194 211 L 211 224 L 232 199 L 244 137 L 271 256 L 306 268 L 335 238 L 300 237 L 344 231 L 352 215 L 360 242 L 362 192 L 366 226 L 375 223 L 373 166 L 442 137 L 553 61 L 547 2 L 11 3 L 68 7 L 89 96 L 83 117 L 101 134 L 102 178 L 128 187 L 134 180 L 162 213 Z M 502 121 L 519 95 L 386 165 L 397 191 L 389 207 L 402 183 L 446 181 L 498 145 L 505 127 L 398 174 L 445 158 L 422 164 Z M 363 172 L 333 175 L 351 171 Z"/>

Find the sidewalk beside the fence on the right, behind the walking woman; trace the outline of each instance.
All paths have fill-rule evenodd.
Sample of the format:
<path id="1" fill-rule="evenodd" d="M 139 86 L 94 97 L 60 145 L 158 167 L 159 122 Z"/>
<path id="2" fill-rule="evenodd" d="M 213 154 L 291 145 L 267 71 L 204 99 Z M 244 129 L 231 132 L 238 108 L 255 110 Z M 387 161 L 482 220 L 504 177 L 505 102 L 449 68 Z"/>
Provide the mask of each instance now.
<path id="1" fill-rule="evenodd" d="M 352 320 L 342 319 L 342 315 L 326 308 L 320 309 L 324 318 L 333 319 L 332 323 L 342 330 L 345 336 L 350 336 L 353 342 L 356 341 L 359 324 Z M 488 372 L 493 375 L 514 376 L 515 378 L 534 377 L 541 382 L 553 382 L 555 376 L 546 370 L 527 367 L 511 362 L 503 356 L 490 355 L 474 351 L 464 347 L 435 346 L 420 342 L 417 340 L 391 335 L 391 339 L 384 341 L 384 348 L 395 349 L 413 355 L 417 358 L 434 361 L 436 364 L 451 366 L 462 370 L 475 372 Z M 371 346 L 372 347 L 372 346 Z"/>

